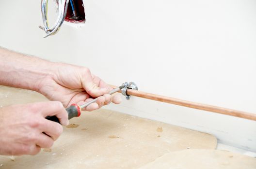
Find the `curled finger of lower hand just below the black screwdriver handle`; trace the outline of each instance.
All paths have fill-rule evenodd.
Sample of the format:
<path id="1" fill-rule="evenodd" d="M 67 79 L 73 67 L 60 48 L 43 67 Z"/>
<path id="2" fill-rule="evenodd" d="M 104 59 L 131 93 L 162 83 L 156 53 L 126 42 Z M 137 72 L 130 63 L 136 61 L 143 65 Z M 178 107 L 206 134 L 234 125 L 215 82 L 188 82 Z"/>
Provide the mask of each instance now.
<path id="1" fill-rule="evenodd" d="M 45 136 L 47 137 L 50 136 L 50 138 L 53 141 L 56 141 L 62 134 L 63 127 L 59 123 L 45 119 L 44 126 L 40 127 L 40 131 L 46 133 L 47 135 L 44 134 Z"/>

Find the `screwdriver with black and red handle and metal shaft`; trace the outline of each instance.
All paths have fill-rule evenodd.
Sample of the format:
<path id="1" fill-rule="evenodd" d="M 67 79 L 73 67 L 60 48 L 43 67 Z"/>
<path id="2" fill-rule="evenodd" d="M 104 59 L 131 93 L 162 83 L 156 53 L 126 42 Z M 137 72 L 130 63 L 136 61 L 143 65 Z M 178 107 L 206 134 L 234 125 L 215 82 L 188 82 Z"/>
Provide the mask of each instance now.
<path id="1" fill-rule="evenodd" d="M 111 90 L 109 92 L 109 94 L 112 95 L 113 93 L 118 92 L 119 90 L 121 90 L 124 87 L 125 87 L 125 84 L 120 85 L 119 87 Z M 85 107 L 89 106 L 90 104 L 92 104 L 92 103 L 94 103 L 96 101 L 97 101 L 97 98 L 93 99 L 93 100 L 91 100 L 91 101 L 89 101 L 89 102 L 87 102 L 87 103 L 85 103 L 85 104 L 83 104 L 81 106 L 79 106 L 78 104 L 75 104 L 75 103 L 71 104 L 70 107 L 66 108 L 66 112 L 68 114 L 68 120 L 73 118 L 73 117 L 79 117 L 81 115 L 82 108 L 85 108 Z M 50 121 L 54 121 L 54 122 L 60 123 L 60 121 L 59 121 L 57 116 L 47 116 L 46 119 L 48 119 Z"/>

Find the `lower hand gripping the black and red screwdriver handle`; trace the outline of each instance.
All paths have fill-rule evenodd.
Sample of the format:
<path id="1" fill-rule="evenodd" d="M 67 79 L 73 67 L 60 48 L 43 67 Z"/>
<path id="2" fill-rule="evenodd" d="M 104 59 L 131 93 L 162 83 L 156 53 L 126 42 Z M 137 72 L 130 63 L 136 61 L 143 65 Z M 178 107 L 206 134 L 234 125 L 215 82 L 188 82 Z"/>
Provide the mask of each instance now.
<path id="1" fill-rule="evenodd" d="M 41 148 L 50 148 L 63 131 L 59 123 L 45 119 L 52 115 L 68 125 L 67 112 L 59 101 L 0 108 L 0 155 L 36 155 Z"/>

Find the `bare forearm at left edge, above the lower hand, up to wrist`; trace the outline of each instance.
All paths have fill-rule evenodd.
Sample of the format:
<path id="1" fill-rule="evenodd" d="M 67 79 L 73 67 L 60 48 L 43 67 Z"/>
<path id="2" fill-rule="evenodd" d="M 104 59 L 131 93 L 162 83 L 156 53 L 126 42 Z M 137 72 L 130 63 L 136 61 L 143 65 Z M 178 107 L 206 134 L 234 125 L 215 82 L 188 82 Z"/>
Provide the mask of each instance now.
<path id="1" fill-rule="evenodd" d="M 0 48 L 0 84 L 39 90 L 47 76 L 52 76 L 52 63 Z"/>

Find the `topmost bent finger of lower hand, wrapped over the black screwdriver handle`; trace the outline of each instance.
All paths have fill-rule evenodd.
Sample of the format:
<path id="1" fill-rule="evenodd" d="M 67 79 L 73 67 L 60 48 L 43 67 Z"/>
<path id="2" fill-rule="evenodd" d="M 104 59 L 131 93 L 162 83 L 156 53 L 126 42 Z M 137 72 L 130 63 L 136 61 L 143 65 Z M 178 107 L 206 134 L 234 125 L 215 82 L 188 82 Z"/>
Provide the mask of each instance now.
<path id="1" fill-rule="evenodd" d="M 64 126 L 69 124 L 68 114 L 60 101 L 32 103 L 31 109 L 33 112 L 40 112 L 44 117 L 57 116 L 60 123 Z"/>

